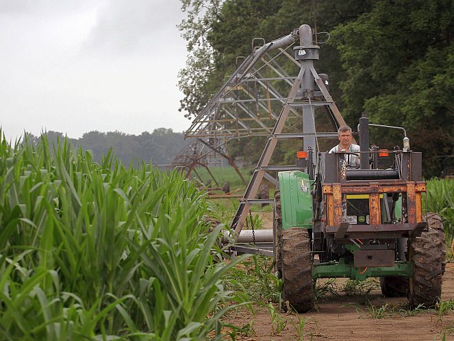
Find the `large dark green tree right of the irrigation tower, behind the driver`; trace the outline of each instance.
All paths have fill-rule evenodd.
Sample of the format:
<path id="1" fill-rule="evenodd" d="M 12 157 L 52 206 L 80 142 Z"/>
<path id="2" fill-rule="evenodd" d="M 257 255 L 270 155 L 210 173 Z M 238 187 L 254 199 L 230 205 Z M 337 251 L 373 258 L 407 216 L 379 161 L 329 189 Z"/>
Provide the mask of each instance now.
<path id="1" fill-rule="evenodd" d="M 440 161 L 454 152 L 453 27 L 451 0 L 383 0 L 338 25 L 331 40 L 346 70 L 344 116 L 355 121 L 366 110 L 374 123 L 407 128 L 427 177 L 439 175 L 447 166 Z M 396 138 L 379 134 L 383 144 Z"/>

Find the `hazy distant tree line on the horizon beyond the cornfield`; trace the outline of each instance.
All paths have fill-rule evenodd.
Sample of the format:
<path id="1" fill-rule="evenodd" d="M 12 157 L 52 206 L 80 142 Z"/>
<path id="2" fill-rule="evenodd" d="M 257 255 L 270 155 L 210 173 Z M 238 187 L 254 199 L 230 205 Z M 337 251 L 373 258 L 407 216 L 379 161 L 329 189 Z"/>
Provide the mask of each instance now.
<path id="1" fill-rule="evenodd" d="M 40 142 L 42 136 L 47 136 L 49 143 L 56 144 L 64 140 L 65 136 L 58 131 L 46 131 L 41 136 L 27 134 L 35 144 Z M 129 135 L 121 131 L 90 131 L 81 138 L 68 138 L 73 147 L 91 150 L 94 160 L 100 160 L 112 148 L 116 157 L 125 164 L 134 165 L 141 161 L 153 165 L 171 164 L 175 155 L 183 149 L 186 142 L 184 133 L 177 133 L 172 129 L 158 128 L 152 133 L 142 132 L 140 135 Z"/>

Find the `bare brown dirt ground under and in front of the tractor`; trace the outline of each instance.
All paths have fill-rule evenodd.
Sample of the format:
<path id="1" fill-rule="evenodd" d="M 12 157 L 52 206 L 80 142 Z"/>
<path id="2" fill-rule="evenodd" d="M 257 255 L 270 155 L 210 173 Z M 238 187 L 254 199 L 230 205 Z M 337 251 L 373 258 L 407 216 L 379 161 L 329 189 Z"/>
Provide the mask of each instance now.
<path id="1" fill-rule="evenodd" d="M 266 216 L 266 219 L 268 218 Z M 273 218 L 272 214 L 270 218 Z M 342 280 L 337 279 L 336 283 Z M 253 321 L 251 336 L 238 336 L 236 339 L 243 341 L 431 341 L 442 340 L 444 334 L 445 340 L 454 340 L 454 312 L 440 317 L 437 310 L 424 310 L 410 316 L 406 297 L 384 298 L 380 290 L 373 290 L 368 295 L 370 304 L 364 305 L 366 301 L 364 296 L 345 296 L 342 292 L 338 294 L 340 296 L 329 295 L 320 301 L 316 312 L 297 315 L 277 310 L 280 317 L 275 317 L 274 323 L 266 307 L 255 307 L 255 316 L 247 310 L 242 310 L 235 316 L 230 316 L 228 321 L 240 327 Z M 454 300 L 453 263 L 446 266 L 442 299 Z M 371 305 L 378 310 L 386 304 L 388 304 L 386 316 L 373 318 Z M 285 323 L 285 327 L 277 333 L 279 321 L 281 326 Z M 299 327 L 301 325 L 303 327 Z"/>

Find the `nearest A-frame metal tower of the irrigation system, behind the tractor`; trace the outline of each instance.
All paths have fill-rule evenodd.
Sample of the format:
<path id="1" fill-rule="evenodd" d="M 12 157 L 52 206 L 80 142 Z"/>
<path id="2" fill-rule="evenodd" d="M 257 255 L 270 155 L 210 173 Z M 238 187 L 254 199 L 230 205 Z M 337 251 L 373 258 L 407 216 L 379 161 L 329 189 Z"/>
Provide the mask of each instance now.
<path id="1" fill-rule="evenodd" d="M 247 190 L 242 198 L 238 211 L 231 222 L 231 229 L 234 229 L 236 237 L 240 235 L 244 221 L 247 219 L 247 214 L 253 203 L 259 203 L 261 199 L 255 199 L 257 191 L 259 189 L 262 179 L 269 179 L 273 181 L 274 178 L 268 173 L 269 171 L 276 170 L 292 170 L 298 169 L 297 166 L 270 166 L 270 159 L 275 151 L 278 140 L 282 138 L 301 138 L 303 139 L 303 149 L 312 149 L 314 152 L 318 152 L 318 138 L 329 138 L 336 137 L 337 131 L 335 132 L 317 132 L 316 131 L 316 108 L 325 107 L 330 114 L 331 121 L 335 123 L 336 128 L 340 125 L 344 125 L 344 119 L 340 114 L 336 103 L 334 103 L 331 95 L 327 90 L 327 81 L 324 77 L 320 77 L 314 68 L 314 61 L 318 60 L 318 45 L 313 44 L 312 40 L 312 29 L 309 25 L 301 25 L 298 30 L 300 45 L 294 47 L 295 60 L 300 64 L 300 70 L 296 79 L 292 84 L 288 97 L 281 108 L 281 112 L 273 131 L 268 137 L 266 146 L 254 170 L 253 176 Z M 291 35 L 292 38 L 296 38 L 296 34 Z M 270 42 L 268 45 L 264 45 L 264 49 L 272 49 L 273 45 L 281 47 L 281 43 L 288 44 L 289 36 L 283 37 L 275 42 Z M 302 112 L 301 121 L 303 126 L 303 132 L 301 133 L 290 133 L 283 134 L 283 129 L 286 127 L 286 122 L 290 118 L 290 113 L 299 108 Z M 337 130 L 337 129 L 336 129 Z M 300 130 L 301 131 L 301 130 Z M 315 157 L 315 153 L 313 153 Z M 313 160 L 310 160 L 313 162 Z M 277 184 L 277 181 L 275 181 Z M 277 184 L 279 186 L 279 184 Z"/>

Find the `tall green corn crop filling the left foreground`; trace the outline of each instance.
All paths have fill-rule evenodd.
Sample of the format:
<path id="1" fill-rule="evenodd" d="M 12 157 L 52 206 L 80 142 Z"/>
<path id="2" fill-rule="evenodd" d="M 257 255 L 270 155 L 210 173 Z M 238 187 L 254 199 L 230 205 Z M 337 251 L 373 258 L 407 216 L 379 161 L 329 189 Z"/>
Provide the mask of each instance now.
<path id="1" fill-rule="evenodd" d="M 0 131 L 1 134 L 1 131 Z M 176 173 L 66 140 L 0 143 L 0 338 L 203 340 L 235 300 L 220 227 Z"/>

